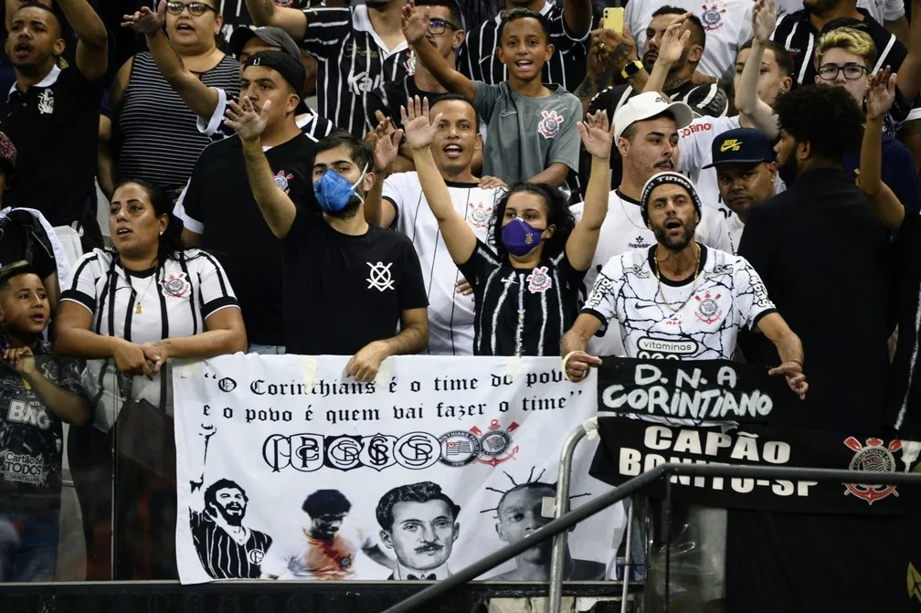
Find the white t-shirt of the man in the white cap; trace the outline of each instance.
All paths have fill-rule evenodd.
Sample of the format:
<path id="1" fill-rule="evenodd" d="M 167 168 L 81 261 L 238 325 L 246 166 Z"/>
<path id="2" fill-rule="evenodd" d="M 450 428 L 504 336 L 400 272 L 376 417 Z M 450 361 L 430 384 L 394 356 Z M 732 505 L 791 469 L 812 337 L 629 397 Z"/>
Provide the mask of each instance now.
<path id="1" fill-rule="evenodd" d="M 571 208 L 577 221 L 582 218 L 583 206 L 584 202 L 579 202 Z M 697 231 L 694 234 L 699 242 L 713 249 L 723 251 L 732 249 L 726 221 L 710 209 L 704 208 L 700 224 L 697 225 Z M 601 225 L 598 248 L 595 249 L 595 257 L 591 260 L 589 272 L 585 275 L 587 290 L 594 286 L 604 266 L 616 260 L 625 251 L 648 249 L 655 244 L 655 235 L 643 223 L 639 203 L 624 197 L 619 191 L 612 191 L 608 197 L 608 214 Z M 619 330 L 613 327 L 603 337 L 591 339 L 587 349 L 592 355 L 624 355 L 624 341 L 621 339 Z"/>

